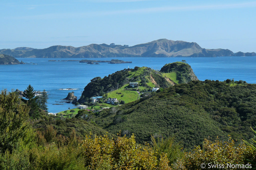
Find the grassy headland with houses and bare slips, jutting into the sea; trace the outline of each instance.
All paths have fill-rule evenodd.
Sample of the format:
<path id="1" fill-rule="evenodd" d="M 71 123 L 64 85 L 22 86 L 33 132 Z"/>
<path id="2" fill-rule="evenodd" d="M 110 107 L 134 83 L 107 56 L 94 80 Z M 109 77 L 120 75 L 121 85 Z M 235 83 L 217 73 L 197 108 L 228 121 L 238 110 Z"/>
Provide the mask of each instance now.
<path id="1" fill-rule="evenodd" d="M 108 94 L 108 97 L 124 100 L 127 103 L 139 98 L 136 91 L 151 91 L 153 87 L 167 88 L 174 84 L 198 80 L 188 64 L 182 62 L 175 63 L 166 64 L 163 67 L 164 69 L 162 68 L 163 71 L 160 72 L 148 67 L 135 67 L 134 69 L 117 71 L 105 76 L 103 79 L 95 77 L 84 87 L 78 102 L 83 103 L 88 101 L 90 97 Z M 177 65 L 179 67 L 175 67 Z M 165 69 L 167 67 L 168 70 Z M 138 82 L 139 87 L 130 88 L 130 82 Z"/>

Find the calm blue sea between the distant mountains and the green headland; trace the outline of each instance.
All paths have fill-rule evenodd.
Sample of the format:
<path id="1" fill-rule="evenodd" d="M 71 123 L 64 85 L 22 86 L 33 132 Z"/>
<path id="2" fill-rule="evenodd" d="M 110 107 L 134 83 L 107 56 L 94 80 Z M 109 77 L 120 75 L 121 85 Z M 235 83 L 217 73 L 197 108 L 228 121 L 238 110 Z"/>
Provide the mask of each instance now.
<path id="1" fill-rule="evenodd" d="M 89 60 L 111 60 L 119 59 L 132 61 L 125 64 L 86 64 L 78 61 L 51 62 L 48 60 L 82 60 L 84 58 L 17 58 L 19 61 L 35 64 L 0 65 L 0 88 L 11 91 L 25 90 L 29 84 L 34 90 L 46 90 L 49 93 L 49 112 L 72 108 L 74 105 L 63 102 L 68 92 L 74 91 L 74 95 L 81 96 L 83 88 L 94 77 L 104 77 L 118 70 L 134 68 L 135 66 L 150 67 L 160 70 L 164 64 L 175 61 L 186 60 L 192 67 L 199 80 L 234 79 L 243 80 L 247 83 L 256 83 L 256 56 L 254 57 L 212 57 L 212 58 L 146 58 L 146 57 L 125 57 L 125 58 L 88 58 Z M 59 90 L 73 88 L 75 90 Z M 61 105 L 53 105 L 53 104 Z"/>

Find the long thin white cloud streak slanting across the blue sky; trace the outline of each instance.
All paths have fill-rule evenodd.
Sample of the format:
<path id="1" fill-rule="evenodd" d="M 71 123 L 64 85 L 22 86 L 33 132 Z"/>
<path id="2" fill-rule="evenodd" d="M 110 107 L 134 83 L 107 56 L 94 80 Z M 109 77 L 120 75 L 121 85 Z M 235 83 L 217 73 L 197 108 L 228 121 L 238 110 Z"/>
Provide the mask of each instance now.
<path id="1" fill-rule="evenodd" d="M 195 6 L 167 6 L 140 8 L 128 10 L 113 11 L 92 11 L 92 12 L 70 12 L 70 13 L 54 13 L 33 16 L 6 17 L 6 19 L 72 19 L 72 18 L 88 18 L 95 16 L 117 15 L 117 14 L 147 14 L 156 12 L 175 12 L 175 11 L 195 11 L 195 10 L 218 10 L 232 8 L 252 8 L 256 7 L 256 2 L 236 3 L 236 4 L 218 4 L 218 5 L 195 5 Z"/>

